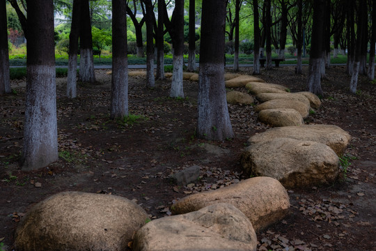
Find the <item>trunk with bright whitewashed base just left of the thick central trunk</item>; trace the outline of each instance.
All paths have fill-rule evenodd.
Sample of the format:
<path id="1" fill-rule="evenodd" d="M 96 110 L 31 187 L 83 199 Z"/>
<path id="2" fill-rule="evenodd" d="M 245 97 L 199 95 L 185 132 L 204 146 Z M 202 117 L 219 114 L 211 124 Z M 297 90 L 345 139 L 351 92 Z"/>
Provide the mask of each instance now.
<path id="1" fill-rule="evenodd" d="M 184 98 L 182 68 L 184 64 L 184 0 L 176 0 L 173 10 L 173 76 L 171 98 Z"/>

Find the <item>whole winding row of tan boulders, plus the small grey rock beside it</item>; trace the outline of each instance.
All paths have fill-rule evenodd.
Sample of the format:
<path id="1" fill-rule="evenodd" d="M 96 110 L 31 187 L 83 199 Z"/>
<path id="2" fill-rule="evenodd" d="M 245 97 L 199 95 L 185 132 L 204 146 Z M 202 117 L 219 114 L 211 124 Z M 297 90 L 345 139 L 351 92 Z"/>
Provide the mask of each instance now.
<path id="1" fill-rule="evenodd" d="M 197 81 L 195 73 L 185 79 Z M 257 176 L 217 190 L 189 195 L 171 206 L 173 216 L 152 220 L 134 202 L 114 195 L 62 192 L 41 201 L 22 218 L 17 250 L 256 250 L 256 232 L 288 213 L 285 188 L 333 182 L 350 135 L 337 126 L 303 125 L 320 100 L 288 93 L 262 79 L 225 75 L 226 86 L 245 87 L 262 102 L 260 121 L 280 126 L 249 138 L 244 173 Z M 228 102 L 251 104 L 252 96 L 231 91 Z M 286 119 L 292 118 L 292 119 Z M 194 166 L 170 178 L 180 185 L 199 173 Z"/>

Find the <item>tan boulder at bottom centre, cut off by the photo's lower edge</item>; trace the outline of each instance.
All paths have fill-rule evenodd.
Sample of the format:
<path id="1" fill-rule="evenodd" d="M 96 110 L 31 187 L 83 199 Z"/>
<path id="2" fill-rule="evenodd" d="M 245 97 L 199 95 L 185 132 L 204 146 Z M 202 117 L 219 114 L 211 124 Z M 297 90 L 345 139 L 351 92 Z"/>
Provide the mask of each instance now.
<path id="1" fill-rule="evenodd" d="M 153 220 L 134 238 L 136 251 L 256 251 L 251 222 L 235 206 L 216 204 L 199 211 Z"/>

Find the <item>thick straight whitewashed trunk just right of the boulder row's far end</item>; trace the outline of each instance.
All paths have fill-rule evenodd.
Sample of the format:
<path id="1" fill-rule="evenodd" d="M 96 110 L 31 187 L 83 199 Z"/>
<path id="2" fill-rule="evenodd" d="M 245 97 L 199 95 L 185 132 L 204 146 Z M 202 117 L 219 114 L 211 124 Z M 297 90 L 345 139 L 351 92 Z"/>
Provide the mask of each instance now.
<path id="1" fill-rule="evenodd" d="M 307 86 L 308 91 L 322 96 L 321 89 L 321 63 L 322 43 L 324 29 L 324 8 L 326 0 L 315 0 L 313 2 L 313 27 L 311 54 L 309 56 L 309 69 Z"/>

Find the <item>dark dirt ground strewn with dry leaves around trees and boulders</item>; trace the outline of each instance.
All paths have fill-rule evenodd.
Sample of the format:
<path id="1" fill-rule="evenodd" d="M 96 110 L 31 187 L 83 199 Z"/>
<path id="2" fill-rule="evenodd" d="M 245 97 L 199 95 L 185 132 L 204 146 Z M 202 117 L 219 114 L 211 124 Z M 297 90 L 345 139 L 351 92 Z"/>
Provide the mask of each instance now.
<path id="1" fill-rule="evenodd" d="M 12 82 L 15 93 L 0 97 L 0 242 L 4 250 L 13 250 L 15 229 L 24 213 L 58 192 L 120 195 L 136 201 L 155 219 L 171 215 L 169 206 L 177 199 L 246 178 L 240 168 L 246 139 L 269 128 L 257 121 L 253 106 L 229 105 L 235 139 L 208 142 L 195 136 L 197 82 L 185 81 L 186 98 L 174 100 L 168 98 L 170 79 L 147 89 L 143 77 L 130 77 L 132 116 L 111 121 L 107 71 L 96 70 L 95 85 L 79 84 L 74 100 L 65 98 L 66 79 L 56 80 L 59 160 L 34 172 L 22 172 L 18 165 L 24 80 Z M 258 233 L 258 250 L 376 250 L 376 84 L 361 76 L 359 92 L 352 95 L 350 77 L 344 72 L 343 66 L 327 70 L 322 107 L 306 123 L 333 124 L 350 132 L 346 159 L 351 165 L 336 183 L 288 190 L 290 214 Z M 293 67 L 263 70 L 260 77 L 284 84 L 292 92 L 306 87 L 306 74 L 295 75 Z M 195 185 L 179 187 L 167 178 L 191 165 L 201 167 Z"/>

